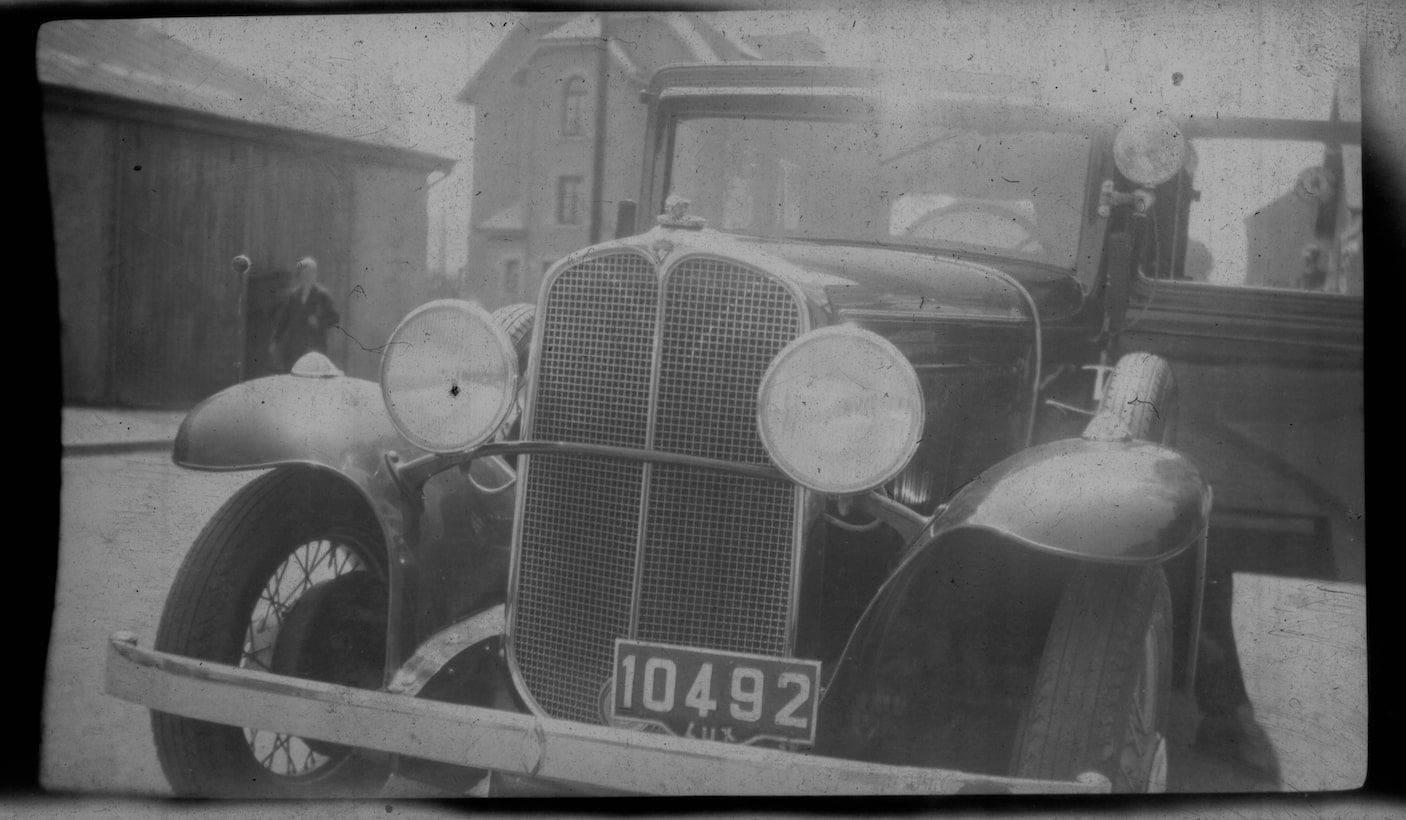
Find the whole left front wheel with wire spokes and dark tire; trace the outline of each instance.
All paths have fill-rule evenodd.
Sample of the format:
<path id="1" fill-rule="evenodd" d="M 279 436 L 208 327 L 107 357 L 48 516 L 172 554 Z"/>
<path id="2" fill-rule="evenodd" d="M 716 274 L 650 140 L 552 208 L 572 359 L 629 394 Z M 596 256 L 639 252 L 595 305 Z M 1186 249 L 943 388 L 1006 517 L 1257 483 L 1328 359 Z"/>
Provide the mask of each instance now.
<path id="1" fill-rule="evenodd" d="M 377 688 L 385 661 L 384 547 L 374 516 L 335 480 L 266 474 L 205 526 L 176 575 L 159 651 Z M 181 796 L 375 795 L 384 758 L 264 729 L 162 712 L 152 733 Z"/>

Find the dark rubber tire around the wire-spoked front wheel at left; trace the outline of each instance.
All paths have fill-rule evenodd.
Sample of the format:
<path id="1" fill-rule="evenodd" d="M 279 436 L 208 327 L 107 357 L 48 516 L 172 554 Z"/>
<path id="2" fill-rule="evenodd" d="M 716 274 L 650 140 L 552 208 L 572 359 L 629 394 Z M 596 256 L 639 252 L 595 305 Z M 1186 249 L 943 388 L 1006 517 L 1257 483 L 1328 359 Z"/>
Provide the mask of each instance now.
<path id="1" fill-rule="evenodd" d="M 361 547 L 363 563 L 384 581 L 381 532 L 360 499 L 335 482 L 309 481 L 305 470 L 274 470 L 225 502 L 195 539 L 166 598 L 156 650 L 239 664 L 264 582 L 316 534 Z M 179 796 L 374 796 L 389 776 L 388 758 L 353 751 L 318 778 L 281 778 L 254 760 L 243 729 L 155 710 L 152 734 Z"/>

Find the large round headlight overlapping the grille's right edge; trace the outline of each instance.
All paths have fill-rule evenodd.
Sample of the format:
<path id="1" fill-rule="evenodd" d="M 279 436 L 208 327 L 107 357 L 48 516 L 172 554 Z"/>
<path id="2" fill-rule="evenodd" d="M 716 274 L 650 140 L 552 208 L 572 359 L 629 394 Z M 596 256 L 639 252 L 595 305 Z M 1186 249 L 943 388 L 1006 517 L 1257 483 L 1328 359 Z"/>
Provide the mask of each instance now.
<path id="1" fill-rule="evenodd" d="M 918 449 L 922 387 L 908 359 L 877 333 L 821 328 L 776 354 L 756 416 L 766 451 L 797 484 L 865 492 L 897 475 Z"/>

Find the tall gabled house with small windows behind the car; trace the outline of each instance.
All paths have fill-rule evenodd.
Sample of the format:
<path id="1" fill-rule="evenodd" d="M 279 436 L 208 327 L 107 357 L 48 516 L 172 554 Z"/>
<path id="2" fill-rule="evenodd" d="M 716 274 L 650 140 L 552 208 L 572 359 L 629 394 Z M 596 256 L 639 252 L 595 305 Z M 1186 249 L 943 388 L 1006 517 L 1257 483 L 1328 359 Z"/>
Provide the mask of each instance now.
<path id="1" fill-rule="evenodd" d="M 474 122 L 468 264 L 458 294 L 530 301 L 553 262 L 614 235 L 640 190 L 640 91 L 669 63 L 821 60 L 810 35 L 740 35 L 702 14 L 522 18 L 458 100 Z"/>

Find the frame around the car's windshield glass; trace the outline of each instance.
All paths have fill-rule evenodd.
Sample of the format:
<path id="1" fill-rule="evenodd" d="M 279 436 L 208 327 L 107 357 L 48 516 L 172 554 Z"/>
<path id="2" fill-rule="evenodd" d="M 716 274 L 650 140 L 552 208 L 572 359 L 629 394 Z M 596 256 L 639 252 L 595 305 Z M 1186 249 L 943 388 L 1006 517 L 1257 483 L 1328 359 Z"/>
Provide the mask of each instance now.
<path id="1" fill-rule="evenodd" d="M 672 91 L 672 93 L 671 93 Z M 1080 214 L 1080 235 L 1076 241 L 1074 267 L 1011 256 L 1010 262 L 1022 266 L 1036 266 L 1047 270 L 1057 270 L 1078 278 L 1085 293 L 1094 290 L 1098 270 L 1102 263 L 1104 238 L 1108 219 L 1097 215 L 1098 187 L 1104 179 L 1114 177 L 1112 165 L 1112 136 L 1114 127 L 1105 120 L 1088 113 L 1069 108 L 1054 108 L 1040 105 L 1031 100 L 993 98 L 990 96 L 959 94 L 953 97 L 935 97 L 935 107 L 925 111 L 925 118 L 934 124 L 950 124 L 973 127 L 980 124 L 983 131 L 1052 131 L 1078 134 L 1088 138 L 1088 165 L 1084 170 L 1084 194 Z M 664 207 L 664 197 L 669 190 L 669 174 L 675 153 L 675 134 L 682 121 L 699 117 L 747 117 L 755 120 L 807 120 L 807 121 L 852 121 L 860 117 L 883 115 L 883 101 L 877 89 L 855 87 L 688 87 L 671 89 L 668 86 L 652 94 L 648 125 L 647 150 L 644 152 L 644 173 L 641 174 L 640 201 L 643 204 L 641 217 L 652 222 L 652 214 L 658 214 Z M 740 233 L 730 231 L 733 233 Z M 770 238 L 770 236 L 768 236 Z M 800 242 L 824 239 L 796 239 Z M 856 243 L 855 241 L 844 241 Z M 972 253 L 960 246 L 942 246 L 939 243 L 912 243 L 894 236 L 891 241 L 879 238 L 873 245 L 887 248 L 905 248 L 957 257 L 991 259 L 986 255 Z M 1007 259 L 1007 257 L 1001 257 Z"/>

